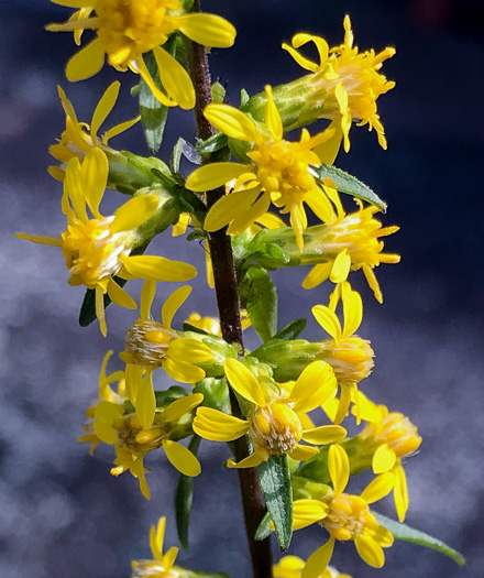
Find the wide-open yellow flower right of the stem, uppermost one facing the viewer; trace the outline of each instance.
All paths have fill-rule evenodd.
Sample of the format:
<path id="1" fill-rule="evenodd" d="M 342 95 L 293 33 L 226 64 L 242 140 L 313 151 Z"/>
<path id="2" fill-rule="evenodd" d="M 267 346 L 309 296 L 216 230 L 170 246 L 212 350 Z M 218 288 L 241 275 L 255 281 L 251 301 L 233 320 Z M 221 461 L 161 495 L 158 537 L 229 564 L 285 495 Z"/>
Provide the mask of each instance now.
<path id="1" fill-rule="evenodd" d="M 239 109 L 229 105 L 209 105 L 205 117 L 232 139 L 246 141 L 253 146 L 248 153 L 251 164 L 212 163 L 194 171 L 186 186 L 196 193 L 211 190 L 237 178 L 233 192 L 218 200 L 205 220 L 207 231 L 229 226 L 229 235 L 240 235 L 264 215 L 271 201 L 282 214 L 290 214 L 290 225 L 299 250 L 307 228 L 304 204 L 323 221 L 336 218 L 324 190 L 317 184 L 314 166 L 321 161 L 312 150 L 328 141 L 331 132 L 310 137 L 304 129 L 299 142 L 283 139 L 283 124 L 274 103 L 272 88 L 265 87 L 267 106 L 266 127 L 261 127 Z"/>

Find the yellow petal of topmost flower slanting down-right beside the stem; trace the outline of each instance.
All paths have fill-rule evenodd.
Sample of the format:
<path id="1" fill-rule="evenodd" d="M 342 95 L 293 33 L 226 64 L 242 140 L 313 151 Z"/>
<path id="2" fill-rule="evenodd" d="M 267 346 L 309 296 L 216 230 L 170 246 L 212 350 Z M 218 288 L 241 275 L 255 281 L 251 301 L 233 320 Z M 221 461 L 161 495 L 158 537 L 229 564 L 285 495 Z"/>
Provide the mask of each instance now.
<path id="1" fill-rule="evenodd" d="M 160 46 L 153 48 L 160 70 L 160 80 L 168 95 L 185 110 L 195 107 L 195 89 L 189 74 L 169 53 Z"/>

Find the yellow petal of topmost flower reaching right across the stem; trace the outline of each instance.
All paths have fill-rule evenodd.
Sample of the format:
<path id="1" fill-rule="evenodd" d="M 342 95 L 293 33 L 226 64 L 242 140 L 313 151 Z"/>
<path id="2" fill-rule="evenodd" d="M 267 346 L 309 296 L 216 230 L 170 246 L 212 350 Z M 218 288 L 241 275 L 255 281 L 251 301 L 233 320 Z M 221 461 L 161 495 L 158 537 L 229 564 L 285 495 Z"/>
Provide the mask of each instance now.
<path id="1" fill-rule="evenodd" d="M 229 48 L 237 35 L 235 28 L 217 14 L 184 14 L 176 18 L 176 28 L 194 42 L 217 48 Z"/>

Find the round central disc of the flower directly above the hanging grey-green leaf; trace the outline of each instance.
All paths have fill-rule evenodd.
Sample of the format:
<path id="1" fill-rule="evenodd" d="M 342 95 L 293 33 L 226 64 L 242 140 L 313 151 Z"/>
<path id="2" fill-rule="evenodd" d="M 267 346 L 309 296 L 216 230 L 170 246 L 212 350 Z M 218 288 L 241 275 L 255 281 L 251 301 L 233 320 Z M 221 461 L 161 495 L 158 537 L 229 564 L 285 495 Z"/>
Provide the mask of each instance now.
<path id="1" fill-rule="evenodd" d="M 250 417 L 250 434 L 254 444 L 280 456 L 295 449 L 302 437 L 302 426 L 296 412 L 276 400 L 255 410 Z"/>

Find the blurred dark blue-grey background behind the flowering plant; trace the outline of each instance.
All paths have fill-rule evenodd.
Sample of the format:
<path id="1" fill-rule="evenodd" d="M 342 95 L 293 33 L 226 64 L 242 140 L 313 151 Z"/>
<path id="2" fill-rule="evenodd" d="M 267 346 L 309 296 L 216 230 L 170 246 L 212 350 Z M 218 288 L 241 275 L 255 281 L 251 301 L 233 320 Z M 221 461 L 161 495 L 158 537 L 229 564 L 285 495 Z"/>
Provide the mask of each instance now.
<path id="1" fill-rule="evenodd" d="M 211 55 L 213 78 L 227 83 L 233 103 L 241 87 L 254 94 L 266 83 L 300 74 L 280 50 L 294 33 L 312 32 L 330 45 L 339 44 L 345 13 L 362 50 L 397 47 L 384 67 L 397 87 L 378 101 L 388 151 L 377 146 L 374 134 L 353 128 L 351 152 L 337 161 L 387 200 L 385 225 L 402 227 L 387 240 L 389 251 L 402 253 L 402 264 L 377 271 L 384 305 L 373 299 L 361 274 L 351 277 L 365 302 L 360 335 L 372 339 L 377 353 L 363 389 L 409 415 L 424 437 L 419 455 L 406 468 L 411 501 L 407 522 L 449 542 L 469 561 L 461 569 L 437 553 L 397 543 L 380 570 L 394 578 L 484 575 L 481 3 L 204 2 L 207 11 L 222 13 L 239 30 L 234 48 Z M 9 578 L 128 577 L 130 559 L 150 557 L 148 527 L 161 514 L 168 515 L 167 545 L 176 544 L 177 476 L 166 459 L 148 460 L 153 498 L 146 502 L 129 473 L 110 476 L 110 450 L 89 457 L 88 448 L 76 441 L 84 412 L 97 395 L 101 359 L 108 348 L 122 350 L 133 314 L 110 307 L 106 340 L 95 325 L 78 327 L 84 291 L 67 285 L 59 251 L 13 237 L 19 230 L 57 235 L 65 228 L 61 185 L 46 173 L 47 148 L 64 128 L 56 85 L 67 90 L 79 118 L 89 121 L 100 95 L 117 77 L 106 67 L 88 81 L 66 81 L 64 65 L 76 50 L 72 35 L 47 33 L 43 26 L 69 13 L 47 0 L 0 2 L 0 567 Z M 129 95 L 136 78 L 125 74 L 121 79 L 113 123 L 136 113 Z M 174 111 L 162 155 L 167 157 L 179 133 L 193 140 L 193 130 L 190 113 Z M 113 145 L 143 153 L 141 129 Z M 110 203 L 119 203 L 116 195 L 108 195 L 107 206 Z M 190 310 L 215 314 L 213 296 L 202 279 L 202 250 L 196 243 L 174 243 L 168 232 L 156 247 L 162 254 L 200 266 L 197 288 L 178 321 Z M 310 306 L 327 298 L 324 290 L 300 290 L 304 274 L 284 271 L 276 276 L 282 325 L 307 316 Z M 158 307 L 173 288 L 160 287 Z M 311 321 L 305 336 L 321 332 Z M 249 338 L 250 347 L 255 343 Z M 221 468 L 227 457 L 227 450 L 202 445 L 191 548 L 178 560 L 244 578 L 250 563 L 237 477 Z M 358 484 L 354 480 L 355 489 Z M 392 504 L 385 508 L 392 512 Z M 323 539 L 324 532 L 317 527 L 298 532 L 290 553 L 306 557 Z M 334 564 L 358 578 L 376 575 L 351 544 L 337 547 Z"/>

